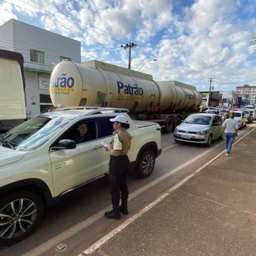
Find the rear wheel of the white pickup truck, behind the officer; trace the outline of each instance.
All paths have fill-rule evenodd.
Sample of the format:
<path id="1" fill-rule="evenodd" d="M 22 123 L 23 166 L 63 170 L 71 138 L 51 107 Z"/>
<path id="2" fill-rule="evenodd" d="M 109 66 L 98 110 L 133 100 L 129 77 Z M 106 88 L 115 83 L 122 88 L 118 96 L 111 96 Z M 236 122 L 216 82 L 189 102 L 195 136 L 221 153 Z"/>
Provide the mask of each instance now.
<path id="1" fill-rule="evenodd" d="M 155 154 L 151 150 L 142 153 L 136 166 L 136 173 L 140 178 L 147 178 L 153 172 L 155 167 Z"/>

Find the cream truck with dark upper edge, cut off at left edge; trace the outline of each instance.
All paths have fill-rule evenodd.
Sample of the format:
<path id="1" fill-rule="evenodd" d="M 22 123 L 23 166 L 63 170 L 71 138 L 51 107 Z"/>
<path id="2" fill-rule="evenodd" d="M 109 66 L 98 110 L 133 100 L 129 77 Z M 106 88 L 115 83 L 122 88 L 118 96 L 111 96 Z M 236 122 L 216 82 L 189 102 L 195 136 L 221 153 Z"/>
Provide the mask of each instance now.
<path id="1" fill-rule="evenodd" d="M 0 134 L 26 119 L 24 58 L 0 49 Z"/>

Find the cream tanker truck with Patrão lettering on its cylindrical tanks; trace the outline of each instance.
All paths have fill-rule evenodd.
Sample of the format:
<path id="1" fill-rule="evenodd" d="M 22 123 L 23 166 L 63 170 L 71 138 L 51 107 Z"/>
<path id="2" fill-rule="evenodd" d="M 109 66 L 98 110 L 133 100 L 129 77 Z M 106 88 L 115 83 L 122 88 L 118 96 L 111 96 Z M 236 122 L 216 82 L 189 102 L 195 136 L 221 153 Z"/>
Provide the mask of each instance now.
<path id="1" fill-rule="evenodd" d="M 50 78 L 54 106 L 124 108 L 133 119 L 158 122 L 172 132 L 202 102 L 196 88 L 178 81 L 154 81 L 150 74 L 98 60 L 62 61 Z"/>

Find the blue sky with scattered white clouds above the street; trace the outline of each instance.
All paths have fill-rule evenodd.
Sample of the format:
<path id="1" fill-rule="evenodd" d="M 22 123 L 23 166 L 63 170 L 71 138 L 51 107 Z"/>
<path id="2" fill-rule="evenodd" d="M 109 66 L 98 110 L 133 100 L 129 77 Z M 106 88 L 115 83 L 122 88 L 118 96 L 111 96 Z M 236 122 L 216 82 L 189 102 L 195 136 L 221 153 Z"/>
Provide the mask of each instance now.
<path id="1" fill-rule="evenodd" d="M 121 45 L 133 42 L 131 69 L 155 81 L 256 86 L 256 0 L 0 0 L 0 10 L 0 26 L 14 18 L 80 41 L 81 61 L 127 68 Z"/>

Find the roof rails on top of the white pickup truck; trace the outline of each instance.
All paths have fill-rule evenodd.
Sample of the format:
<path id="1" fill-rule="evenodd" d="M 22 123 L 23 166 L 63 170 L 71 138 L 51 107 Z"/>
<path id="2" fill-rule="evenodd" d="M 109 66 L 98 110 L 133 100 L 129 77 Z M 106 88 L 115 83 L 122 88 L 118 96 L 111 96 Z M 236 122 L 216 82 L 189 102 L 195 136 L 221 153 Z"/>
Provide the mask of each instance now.
<path id="1" fill-rule="evenodd" d="M 114 113 L 128 113 L 128 109 L 118 109 L 118 108 L 99 108 L 98 106 L 65 106 L 63 108 L 57 108 L 53 111 L 65 111 L 65 110 L 91 110 L 90 112 L 83 113 L 83 115 L 93 115 L 103 112 L 114 112 Z"/>

